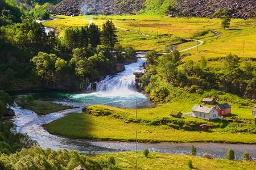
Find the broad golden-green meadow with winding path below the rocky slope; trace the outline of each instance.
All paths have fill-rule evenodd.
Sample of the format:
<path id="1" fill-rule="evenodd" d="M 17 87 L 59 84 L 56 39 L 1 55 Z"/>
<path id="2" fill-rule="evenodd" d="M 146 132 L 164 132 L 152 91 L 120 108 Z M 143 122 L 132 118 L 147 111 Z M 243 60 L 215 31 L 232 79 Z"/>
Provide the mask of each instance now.
<path id="1" fill-rule="evenodd" d="M 245 58 L 256 56 L 256 35 L 252 34 L 256 32 L 256 19 L 232 19 L 230 28 L 223 30 L 220 19 L 209 18 L 168 18 L 152 14 L 57 17 L 63 19 L 47 21 L 44 25 L 61 32 L 67 27 L 81 27 L 92 22 L 101 26 L 106 20 L 112 20 L 118 28 L 119 42 L 122 45 L 134 46 L 137 50 L 165 52 L 168 46 L 181 42 L 180 39 L 200 39 L 204 44 L 198 51 L 195 48 L 184 52 L 192 54 L 185 59 L 199 61 L 201 56 L 209 59 L 224 57 L 229 53 Z M 210 30 L 220 35 L 215 36 L 214 33 L 209 32 Z M 245 40 L 245 52 L 243 52 L 243 40 Z M 191 44 L 196 45 L 197 42 L 180 44 L 177 48 L 182 50 Z"/>

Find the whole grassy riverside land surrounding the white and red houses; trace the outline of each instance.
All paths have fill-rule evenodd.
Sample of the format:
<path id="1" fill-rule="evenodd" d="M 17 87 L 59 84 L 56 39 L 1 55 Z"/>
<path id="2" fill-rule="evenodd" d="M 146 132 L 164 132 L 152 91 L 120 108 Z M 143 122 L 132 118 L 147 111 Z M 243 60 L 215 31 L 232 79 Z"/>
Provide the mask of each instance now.
<path id="1" fill-rule="evenodd" d="M 208 92 L 208 95 L 214 92 Z M 194 104 L 200 104 L 200 96 L 188 94 L 172 103 L 155 108 L 138 109 L 137 118 L 133 109 L 119 109 L 105 105 L 89 106 L 84 113 L 73 113 L 47 125 L 52 134 L 70 138 L 135 141 L 138 130 L 140 142 L 228 142 L 256 143 L 256 127 L 251 115 L 251 104 L 230 94 L 219 95 L 220 102 L 232 105 L 232 115 L 224 120 L 208 122 L 192 118 L 173 118 L 173 111 L 187 113 Z M 230 121 L 231 120 L 231 121 Z M 237 124 L 235 121 L 240 120 Z M 207 124 L 206 132 L 199 126 Z M 107 128 L 106 128 L 107 127 Z"/>

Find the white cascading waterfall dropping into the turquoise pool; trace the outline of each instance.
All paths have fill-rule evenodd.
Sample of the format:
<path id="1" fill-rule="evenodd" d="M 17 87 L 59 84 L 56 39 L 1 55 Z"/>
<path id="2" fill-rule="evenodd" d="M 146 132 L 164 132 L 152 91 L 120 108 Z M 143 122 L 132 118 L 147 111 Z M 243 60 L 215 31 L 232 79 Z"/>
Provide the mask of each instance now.
<path id="1" fill-rule="evenodd" d="M 125 71 L 116 75 L 105 76 L 100 82 L 91 83 L 88 91 L 92 91 L 96 86 L 96 91 L 107 92 L 131 92 L 136 91 L 135 72 L 143 72 L 145 59 L 143 54 L 138 54 L 138 61 L 125 66 Z M 95 89 L 95 88 L 94 88 Z"/>

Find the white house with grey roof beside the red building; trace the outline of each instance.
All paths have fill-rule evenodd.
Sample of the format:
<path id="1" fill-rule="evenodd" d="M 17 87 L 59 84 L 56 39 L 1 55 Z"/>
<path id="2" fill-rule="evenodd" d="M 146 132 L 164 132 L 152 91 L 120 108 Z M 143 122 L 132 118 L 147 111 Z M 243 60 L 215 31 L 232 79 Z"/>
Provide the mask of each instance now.
<path id="1" fill-rule="evenodd" d="M 192 117 L 202 118 L 204 120 L 217 120 L 223 118 L 218 116 L 218 111 L 215 108 L 206 107 L 196 104 L 192 109 Z"/>

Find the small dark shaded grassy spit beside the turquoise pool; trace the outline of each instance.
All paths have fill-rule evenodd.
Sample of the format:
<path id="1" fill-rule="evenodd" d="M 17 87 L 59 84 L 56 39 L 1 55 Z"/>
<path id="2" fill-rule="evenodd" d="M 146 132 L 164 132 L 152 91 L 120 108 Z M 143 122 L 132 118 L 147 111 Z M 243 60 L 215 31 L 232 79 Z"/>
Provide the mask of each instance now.
<path id="1" fill-rule="evenodd" d="M 16 100 L 16 102 L 18 105 L 23 105 L 23 104 L 20 104 L 19 100 Z M 73 107 L 62 105 L 62 104 L 56 104 L 51 101 L 34 100 L 31 103 L 27 103 L 26 105 L 23 105 L 23 108 L 33 111 L 39 115 L 45 115 L 49 113 L 72 109 Z"/>

